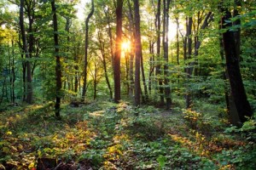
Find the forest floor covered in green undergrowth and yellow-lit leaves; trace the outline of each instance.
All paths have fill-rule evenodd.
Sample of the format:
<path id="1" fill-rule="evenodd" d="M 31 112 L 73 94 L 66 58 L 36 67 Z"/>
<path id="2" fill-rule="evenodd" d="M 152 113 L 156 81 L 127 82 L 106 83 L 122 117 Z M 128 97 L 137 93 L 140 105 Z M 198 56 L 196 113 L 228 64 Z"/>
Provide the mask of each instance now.
<path id="1" fill-rule="evenodd" d="M 255 122 L 230 127 L 214 105 L 198 108 L 98 101 L 62 105 L 56 120 L 52 103 L 9 105 L 0 169 L 254 169 Z"/>

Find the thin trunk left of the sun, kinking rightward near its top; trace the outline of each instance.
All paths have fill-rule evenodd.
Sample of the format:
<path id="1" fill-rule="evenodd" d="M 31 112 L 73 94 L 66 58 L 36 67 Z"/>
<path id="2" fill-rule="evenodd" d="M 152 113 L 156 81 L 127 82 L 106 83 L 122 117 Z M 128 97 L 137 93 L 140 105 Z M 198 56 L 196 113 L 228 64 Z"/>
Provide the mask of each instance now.
<path id="1" fill-rule="evenodd" d="M 85 20 L 85 45 L 84 45 L 84 83 L 83 83 L 83 92 L 82 92 L 82 100 L 85 100 L 86 88 L 87 88 L 87 65 L 88 65 L 88 37 L 89 37 L 89 20 L 92 14 L 94 13 L 94 1 L 91 0 L 91 10 L 90 14 L 88 14 Z"/>

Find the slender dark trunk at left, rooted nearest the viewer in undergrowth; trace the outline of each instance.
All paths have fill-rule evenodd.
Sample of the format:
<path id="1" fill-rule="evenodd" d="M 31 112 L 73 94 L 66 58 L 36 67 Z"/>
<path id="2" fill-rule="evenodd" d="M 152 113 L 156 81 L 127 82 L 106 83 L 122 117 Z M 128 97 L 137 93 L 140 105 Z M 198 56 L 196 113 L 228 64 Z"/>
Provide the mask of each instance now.
<path id="1" fill-rule="evenodd" d="M 53 26 L 54 26 L 54 40 L 55 40 L 55 77 L 56 77 L 56 103 L 55 103 L 55 116 L 61 118 L 61 57 L 59 49 L 59 37 L 58 37 L 58 20 L 56 14 L 55 0 L 51 1 L 51 10 L 53 13 Z"/>

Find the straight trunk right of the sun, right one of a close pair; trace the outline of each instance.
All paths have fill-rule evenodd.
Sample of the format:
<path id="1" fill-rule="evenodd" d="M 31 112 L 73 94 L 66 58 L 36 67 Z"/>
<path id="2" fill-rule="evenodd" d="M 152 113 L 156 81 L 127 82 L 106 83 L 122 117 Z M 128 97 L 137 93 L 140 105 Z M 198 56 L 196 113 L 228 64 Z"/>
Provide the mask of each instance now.
<path id="1" fill-rule="evenodd" d="M 166 109 L 171 109 L 172 99 L 171 99 L 171 88 L 169 87 L 168 79 L 168 33 L 169 33 L 169 6 L 171 0 L 164 0 L 164 20 L 163 20 L 163 47 L 164 47 L 164 59 L 166 64 L 164 65 L 164 75 L 165 75 L 165 96 L 166 96 Z"/>

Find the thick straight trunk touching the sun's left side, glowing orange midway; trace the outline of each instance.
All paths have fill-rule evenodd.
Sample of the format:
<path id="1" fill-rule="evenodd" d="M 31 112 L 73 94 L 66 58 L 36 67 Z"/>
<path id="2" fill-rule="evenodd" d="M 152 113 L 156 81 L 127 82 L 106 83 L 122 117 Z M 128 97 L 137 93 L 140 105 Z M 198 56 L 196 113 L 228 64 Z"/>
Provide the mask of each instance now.
<path id="1" fill-rule="evenodd" d="M 117 1 L 116 7 L 116 40 L 115 40 L 115 54 L 113 59 L 113 80 L 114 80 L 114 102 L 119 103 L 121 99 L 121 79 L 120 79 L 120 57 L 121 57 L 121 43 L 122 43 L 122 11 L 123 0 Z"/>

